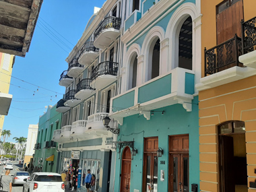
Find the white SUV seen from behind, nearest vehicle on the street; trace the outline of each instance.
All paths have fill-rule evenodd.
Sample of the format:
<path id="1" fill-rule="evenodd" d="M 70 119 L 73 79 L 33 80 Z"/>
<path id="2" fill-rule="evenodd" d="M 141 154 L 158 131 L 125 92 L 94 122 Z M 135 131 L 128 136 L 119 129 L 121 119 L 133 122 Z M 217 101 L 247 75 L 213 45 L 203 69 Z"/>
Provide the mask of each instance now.
<path id="1" fill-rule="evenodd" d="M 61 174 L 55 172 L 34 172 L 30 179 L 24 179 L 23 192 L 63 192 L 65 185 L 61 179 Z"/>

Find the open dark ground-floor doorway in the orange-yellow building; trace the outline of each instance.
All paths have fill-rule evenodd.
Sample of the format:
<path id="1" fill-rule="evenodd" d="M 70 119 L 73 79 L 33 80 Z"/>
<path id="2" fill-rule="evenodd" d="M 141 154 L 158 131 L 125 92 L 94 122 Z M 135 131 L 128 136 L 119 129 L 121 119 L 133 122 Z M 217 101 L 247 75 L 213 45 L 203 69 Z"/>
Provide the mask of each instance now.
<path id="1" fill-rule="evenodd" d="M 248 191 L 245 123 L 229 121 L 220 125 L 218 131 L 220 191 Z"/>

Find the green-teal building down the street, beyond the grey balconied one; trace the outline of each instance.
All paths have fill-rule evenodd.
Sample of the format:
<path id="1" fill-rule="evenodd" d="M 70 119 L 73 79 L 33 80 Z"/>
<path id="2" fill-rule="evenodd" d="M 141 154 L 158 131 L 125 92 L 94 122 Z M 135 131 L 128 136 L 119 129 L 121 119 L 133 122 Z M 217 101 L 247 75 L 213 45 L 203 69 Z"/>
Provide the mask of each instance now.
<path id="1" fill-rule="evenodd" d="M 55 106 L 48 106 L 44 115 L 40 116 L 38 123 L 38 135 L 34 146 L 34 167 L 42 168 L 44 172 L 58 172 L 60 154 L 57 143 L 52 141 L 53 132 L 61 129 L 61 113 L 56 111 Z"/>

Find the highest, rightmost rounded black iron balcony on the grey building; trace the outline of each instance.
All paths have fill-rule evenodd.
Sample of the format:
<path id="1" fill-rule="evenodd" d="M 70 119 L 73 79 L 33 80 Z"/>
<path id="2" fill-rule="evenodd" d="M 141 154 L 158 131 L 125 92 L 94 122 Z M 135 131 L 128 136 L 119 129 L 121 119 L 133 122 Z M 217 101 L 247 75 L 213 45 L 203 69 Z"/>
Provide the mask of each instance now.
<path id="1" fill-rule="evenodd" d="M 105 18 L 94 32 L 94 46 L 104 49 L 120 35 L 121 18 Z"/>

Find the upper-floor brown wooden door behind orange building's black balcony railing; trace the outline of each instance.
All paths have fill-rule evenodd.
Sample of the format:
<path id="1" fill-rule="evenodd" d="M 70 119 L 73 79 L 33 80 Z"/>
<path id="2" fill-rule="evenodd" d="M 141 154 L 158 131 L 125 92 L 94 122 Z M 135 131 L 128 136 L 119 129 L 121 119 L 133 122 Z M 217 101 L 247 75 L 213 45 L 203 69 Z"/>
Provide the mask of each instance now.
<path id="1" fill-rule="evenodd" d="M 216 7 L 217 44 L 241 35 L 243 0 L 225 0 Z"/>

